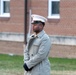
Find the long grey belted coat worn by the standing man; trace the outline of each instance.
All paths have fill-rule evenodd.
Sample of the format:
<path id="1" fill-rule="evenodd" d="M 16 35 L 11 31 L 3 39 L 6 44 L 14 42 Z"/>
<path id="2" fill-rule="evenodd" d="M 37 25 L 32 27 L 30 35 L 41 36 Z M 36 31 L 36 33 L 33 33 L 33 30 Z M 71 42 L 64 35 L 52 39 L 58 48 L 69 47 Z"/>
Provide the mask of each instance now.
<path id="1" fill-rule="evenodd" d="M 29 38 L 24 50 L 24 63 L 30 71 L 25 75 L 50 75 L 50 63 L 48 54 L 51 48 L 49 36 L 42 30 L 37 36 L 34 34 Z"/>

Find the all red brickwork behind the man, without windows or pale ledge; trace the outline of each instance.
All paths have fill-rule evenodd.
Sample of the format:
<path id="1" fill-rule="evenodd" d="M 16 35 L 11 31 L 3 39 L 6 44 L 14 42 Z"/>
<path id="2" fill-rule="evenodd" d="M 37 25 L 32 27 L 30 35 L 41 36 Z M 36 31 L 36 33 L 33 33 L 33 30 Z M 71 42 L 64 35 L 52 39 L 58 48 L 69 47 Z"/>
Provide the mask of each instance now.
<path id="1" fill-rule="evenodd" d="M 31 0 L 32 13 L 48 16 L 48 0 Z M 10 1 L 10 18 L 0 18 L 0 32 L 24 32 L 24 0 Z M 60 19 L 48 20 L 45 31 L 50 35 L 76 36 L 76 1 L 60 0 Z M 52 45 L 52 57 L 76 58 L 75 46 Z M 23 43 L 0 41 L 0 53 L 23 54 Z"/>

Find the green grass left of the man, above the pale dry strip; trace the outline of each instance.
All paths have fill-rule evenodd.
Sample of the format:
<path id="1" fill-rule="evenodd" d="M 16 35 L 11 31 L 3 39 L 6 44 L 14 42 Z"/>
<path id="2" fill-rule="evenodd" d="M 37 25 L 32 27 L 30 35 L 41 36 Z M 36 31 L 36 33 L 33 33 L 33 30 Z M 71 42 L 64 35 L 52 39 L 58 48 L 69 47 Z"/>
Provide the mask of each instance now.
<path id="1" fill-rule="evenodd" d="M 23 57 L 22 56 L 9 56 L 0 54 L 0 69 L 18 69 L 22 68 Z"/>

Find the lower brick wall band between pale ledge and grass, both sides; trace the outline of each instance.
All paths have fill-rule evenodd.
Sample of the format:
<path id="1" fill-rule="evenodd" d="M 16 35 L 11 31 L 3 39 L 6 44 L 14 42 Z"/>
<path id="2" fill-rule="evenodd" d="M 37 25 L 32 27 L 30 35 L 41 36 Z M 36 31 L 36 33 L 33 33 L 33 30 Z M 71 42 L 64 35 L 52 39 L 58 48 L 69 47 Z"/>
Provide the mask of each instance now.
<path id="1" fill-rule="evenodd" d="M 23 42 L 0 41 L 0 53 L 23 55 Z M 50 57 L 76 58 L 76 46 L 52 45 Z"/>

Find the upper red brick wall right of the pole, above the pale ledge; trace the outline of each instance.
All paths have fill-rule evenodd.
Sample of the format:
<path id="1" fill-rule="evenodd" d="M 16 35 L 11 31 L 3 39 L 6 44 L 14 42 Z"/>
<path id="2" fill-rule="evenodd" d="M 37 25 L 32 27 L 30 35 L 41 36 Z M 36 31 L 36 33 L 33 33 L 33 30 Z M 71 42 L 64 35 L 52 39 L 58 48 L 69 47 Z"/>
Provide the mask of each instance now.
<path id="1" fill-rule="evenodd" d="M 48 0 L 32 0 L 32 13 L 48 16 Z M 76 1 L 60 0 L 60 19 L 48 20 L 45 30 L 52 35 L 76 35 Z"/>

